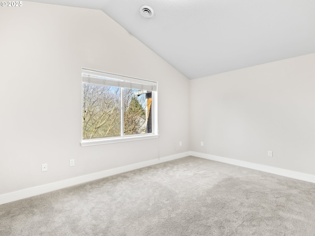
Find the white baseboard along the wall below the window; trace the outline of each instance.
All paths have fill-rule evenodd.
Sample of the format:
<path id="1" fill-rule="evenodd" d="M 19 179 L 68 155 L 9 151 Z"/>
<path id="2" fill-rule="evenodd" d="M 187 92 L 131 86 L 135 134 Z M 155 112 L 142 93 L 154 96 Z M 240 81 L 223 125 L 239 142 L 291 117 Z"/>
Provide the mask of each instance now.
<path id="1" fill-rule="evenodd" d="M 29 197 L 33 197 L 39 194 L 48 193 L 54 190 L 74 186 L 80 183 L 89 182 L 89 181 L 96 180 L 99 178 L 109 177 L 109 176 L 121 174 L 124 172 L 140 169 L 143 167 L 152 166 L 158 163 L 175 160 L 175 159 L 182 158 L 189 155 L 190 155 L 189 151 L 182 152 L 175 155 L 160 157 L 157 159 L 139 162 L 139 163 L 135 163 L 135 164 L 127 165 L 127 166 L 122 166 L 115 169 L 101 171 L 101 172 L 97 172 L 97 173 L 93 173 L 93 174 L 89 174 L 85 176 L 79 176 L 75 178 L 64 179 L 58 182 L 48 183 L 48 184 L 44 184 L 44 185 L 40 185 L 40 186 L 36 186 L 32 188 L 22 189 L 22 190 L 12 192 L 12 193 L 2 194 L 0 195 L 0 205 L 14 202 L 21 199 L 25 199 L 25 198 L 29 198 Z"/>

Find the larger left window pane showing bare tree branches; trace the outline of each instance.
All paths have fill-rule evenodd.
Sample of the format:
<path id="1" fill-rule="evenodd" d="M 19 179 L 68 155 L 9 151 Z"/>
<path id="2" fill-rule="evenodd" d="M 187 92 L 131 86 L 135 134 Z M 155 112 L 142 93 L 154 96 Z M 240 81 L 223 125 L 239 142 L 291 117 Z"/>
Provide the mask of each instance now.
<path id="1" fill-rule="evenodd" d="M 120 136 L 121 88 L 82 84 L 82 138 Z"/>

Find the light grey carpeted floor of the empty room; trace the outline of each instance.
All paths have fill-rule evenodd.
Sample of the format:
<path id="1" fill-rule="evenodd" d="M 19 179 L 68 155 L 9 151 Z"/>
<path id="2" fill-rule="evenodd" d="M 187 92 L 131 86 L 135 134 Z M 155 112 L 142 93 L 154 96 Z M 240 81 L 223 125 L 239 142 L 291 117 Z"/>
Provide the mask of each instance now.
<path id="1" fill-rule="evenodd" d="M 185 157 L 0 206 L 0 236 L 314 236 L 315 184 Z"/>

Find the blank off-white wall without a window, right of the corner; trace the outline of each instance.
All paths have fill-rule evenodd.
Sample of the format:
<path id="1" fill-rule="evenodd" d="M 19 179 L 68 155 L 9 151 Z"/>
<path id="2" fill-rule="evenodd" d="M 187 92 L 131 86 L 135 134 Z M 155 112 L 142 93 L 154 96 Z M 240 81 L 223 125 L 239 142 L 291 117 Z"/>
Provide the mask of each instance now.
<path id="1" fill-rule="evenodd" d="M 189 83 L 191 151 L 315 175 L 315 54 Z"/>

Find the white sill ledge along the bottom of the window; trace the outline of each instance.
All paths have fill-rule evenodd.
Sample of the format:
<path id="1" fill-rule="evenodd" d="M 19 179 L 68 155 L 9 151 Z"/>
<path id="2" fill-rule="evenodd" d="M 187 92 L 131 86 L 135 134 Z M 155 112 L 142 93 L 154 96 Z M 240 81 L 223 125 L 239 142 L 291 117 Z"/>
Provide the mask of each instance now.
<path id="1" fill-rule="evenodd" d="M 156 138 L 158 138 L 158 134 L 137 135 L 137 136 L 117 137 L 117 138 L 107 138 L 107 139 L 89 139 L 89 140 L 82 140 L 81 146 L 87 147 L 87 146 L 95 146 L 95 145 L 102 145 L 102 144 L 115 144 L 115 143 L 130 142 L 130 141 L 145 140 L 145 139 L 156 139 Z"/>

